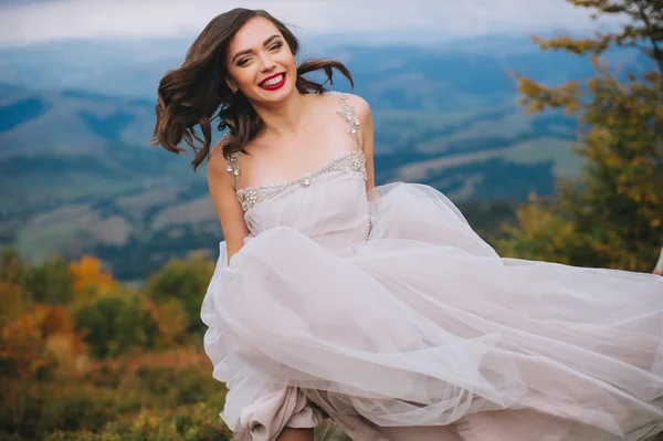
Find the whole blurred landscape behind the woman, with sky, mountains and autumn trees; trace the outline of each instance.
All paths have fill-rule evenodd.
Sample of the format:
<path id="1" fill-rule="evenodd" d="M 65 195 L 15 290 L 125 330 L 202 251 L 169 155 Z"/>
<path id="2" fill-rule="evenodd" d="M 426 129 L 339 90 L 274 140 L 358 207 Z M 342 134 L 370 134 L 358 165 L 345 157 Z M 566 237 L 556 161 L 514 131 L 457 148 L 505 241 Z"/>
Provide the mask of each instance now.
<path id="1" fill-rule="evenodd" d="M 234 7 L 349 67 L 378 185 L 438 188 L 505 256 L 653 269 L 659 1 L 0 1 L 0 439 L 230 439 L 206 170 L 149 139 L 160 77 Z"/>

